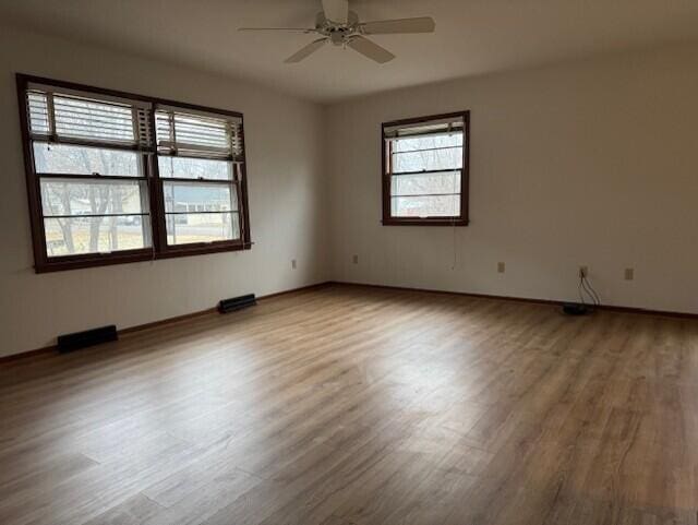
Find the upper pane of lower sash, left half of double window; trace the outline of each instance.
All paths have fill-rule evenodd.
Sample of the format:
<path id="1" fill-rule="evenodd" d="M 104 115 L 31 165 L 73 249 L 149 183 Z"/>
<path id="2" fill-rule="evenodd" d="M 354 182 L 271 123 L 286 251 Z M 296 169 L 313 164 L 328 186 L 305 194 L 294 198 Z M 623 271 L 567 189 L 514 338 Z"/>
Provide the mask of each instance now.
<path id="1" fill-rule="evenodd" d="M 147 213 L 145 182 L 41 179 L 44 216 Z"/>

